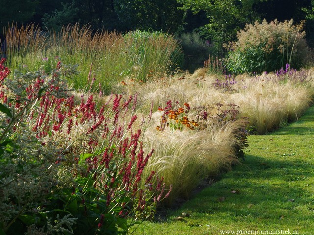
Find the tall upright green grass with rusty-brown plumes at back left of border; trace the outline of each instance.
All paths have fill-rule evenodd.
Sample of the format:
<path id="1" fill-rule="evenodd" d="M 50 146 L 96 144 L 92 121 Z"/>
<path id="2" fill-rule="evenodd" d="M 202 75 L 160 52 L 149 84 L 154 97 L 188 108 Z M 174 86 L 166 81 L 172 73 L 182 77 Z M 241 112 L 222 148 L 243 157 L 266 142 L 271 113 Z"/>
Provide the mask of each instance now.
<path id="1" fill-rule="evenodd" d="M 87 77 L 92 79 L 96 74 L 95 87 L 100 84 L 105 94 L 121 90 L 126 78 L 144 82 L 165 75 L 183 60 L 177 41 L 162 32 L 93 32 L 88 25 L 75 24 L 55 33 L 43 32 L 31 24 L 22 28 L 12 25 L 6 29 L 5 38 L 12 70 L 31 71 L 40 66 L 49 70 L 59 60 L 78 64 L 79 76 L 69 80 L 74 88 L 83 89 Z"/>

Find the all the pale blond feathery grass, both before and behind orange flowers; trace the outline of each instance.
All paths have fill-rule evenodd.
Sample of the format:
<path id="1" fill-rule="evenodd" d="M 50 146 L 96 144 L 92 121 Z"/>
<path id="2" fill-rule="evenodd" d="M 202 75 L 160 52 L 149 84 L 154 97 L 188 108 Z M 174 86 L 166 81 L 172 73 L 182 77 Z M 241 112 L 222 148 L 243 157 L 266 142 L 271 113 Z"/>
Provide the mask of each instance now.
<path id="1" fill-rule="evenodd" d="M 246 143 L 240 141 L 238 134 L 245 121 L 255 133 L 264 134 L 298 119 L 312 102 L 312 79 L 311 71 L 290 69 L 260 77 L 218 76 L 199 69 L 194 74 L 161 77 L 141 85 L 137 89 L 141 112 L 151 107 L 150 100 L 154 100 L 154 111 L 163 110 L 162 106 L 173 100 L 189 104 L 190 120 L 200 110 L 208 117 L 202 120 L 205 128 L 191 130 L 185 128 L 186 123 L 173 124 L 174 120 L 164 118 L 160 111 L 152 116 L 153 126 L 146 130 L 144 141 L 147 146 L 154 146 L 155 154 L 147 169 L 158 169 L 166 184 L 173 185 L 167 204 L 173 204 L 177 198 L 188 198 L 201 179 L 214 177 L 238 163 L 236 149 L 239 144 L 244 148 Z M 229 109 L 229 105 L 233 108 Z M 244 119 L 222 124 L 226 117 L 223 114 L 228 110 L 238 111 L 237 115 Z"/>

